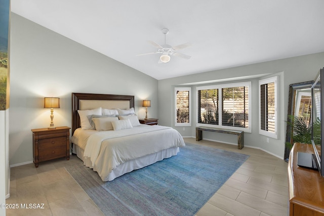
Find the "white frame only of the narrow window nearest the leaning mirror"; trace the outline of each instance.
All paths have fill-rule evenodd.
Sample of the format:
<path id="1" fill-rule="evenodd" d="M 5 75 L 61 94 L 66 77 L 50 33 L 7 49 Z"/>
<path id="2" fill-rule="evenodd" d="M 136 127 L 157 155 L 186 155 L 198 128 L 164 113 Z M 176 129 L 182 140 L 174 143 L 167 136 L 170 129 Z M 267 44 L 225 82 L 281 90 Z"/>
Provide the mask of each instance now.
<path id="1" fill-rule="evenodd" d="M 274 132 L 261 129 L 261 85 L 274 82 Z M 259 80 L 259 134 L 278 139 L 278 76 Z"/>

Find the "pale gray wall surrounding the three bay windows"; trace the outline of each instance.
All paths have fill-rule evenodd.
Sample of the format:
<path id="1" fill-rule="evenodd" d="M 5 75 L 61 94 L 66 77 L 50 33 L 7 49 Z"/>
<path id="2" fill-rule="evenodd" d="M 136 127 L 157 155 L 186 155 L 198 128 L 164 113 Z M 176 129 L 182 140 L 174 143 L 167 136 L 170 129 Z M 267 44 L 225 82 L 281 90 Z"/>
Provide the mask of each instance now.
<path id="1" fill-rule="evenodd" d="M 252 133 L 245 133 L 245 145 L 263 149 L 277 157 L 284 158 L 286 120 L 288 109 L 289 84 L 313 80 L 320 67 L 324 66 L 324 53 L 269 61 L 258 64 L 192 74 L 176 78 L 158 81 L 158 106 L 159 123 L 174 126 L 174 87 L 192 87 L 192 126 L 175 127 L 184 137 L 195 137 L 196 93 L 195 82 L 209 81 L 207 85 L 224 82 L 252 81 Z M 258 80 L 264 77 L 278 75 L 279 99 L 278 99 L 278 139 L 259 135 L 258 131 Z M 211 81 L 214 80 L 214 81 Z M 226 80 L 226 81 L 225 81 Z M 191 84 L 186 84 L 191 83 Z M 206 84 L 205 84 L 206 85 Z M 217 140 L 226 143 L 236 143 L 236 137 L 232 135 L 214 134 L 203 132 L 204 139 Z"/>

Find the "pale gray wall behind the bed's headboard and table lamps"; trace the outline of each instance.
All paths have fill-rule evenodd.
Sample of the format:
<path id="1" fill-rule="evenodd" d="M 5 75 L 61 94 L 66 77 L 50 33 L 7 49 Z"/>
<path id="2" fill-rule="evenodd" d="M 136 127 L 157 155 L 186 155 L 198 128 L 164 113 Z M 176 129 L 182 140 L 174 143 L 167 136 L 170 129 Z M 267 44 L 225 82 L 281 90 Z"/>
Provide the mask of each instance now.
<path id="1" fill-rule="evenodd" d="M 135 96 L 135 112 L 157 116 L 157 80 L 17 14 L 11 17 L 10 164 L 32 161 L 33 128 L 48 127 L 44 97 L 60 97 L 56 126 L 71 126 L 71 93 Z"/>

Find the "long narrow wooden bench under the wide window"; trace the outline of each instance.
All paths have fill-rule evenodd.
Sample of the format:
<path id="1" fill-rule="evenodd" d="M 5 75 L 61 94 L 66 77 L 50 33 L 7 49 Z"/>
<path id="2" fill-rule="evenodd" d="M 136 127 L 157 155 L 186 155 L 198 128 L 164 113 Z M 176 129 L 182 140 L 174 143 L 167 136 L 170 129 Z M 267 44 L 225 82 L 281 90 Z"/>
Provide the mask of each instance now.
<path id="1" fill-rule="evenodd" d="M 242 131 L 199 126 L 196 127 L 196 141 L 203 139 L 203 131 L 237 135 L 237 148 L 242 149 L 244 147 L 244 132 Z"/>

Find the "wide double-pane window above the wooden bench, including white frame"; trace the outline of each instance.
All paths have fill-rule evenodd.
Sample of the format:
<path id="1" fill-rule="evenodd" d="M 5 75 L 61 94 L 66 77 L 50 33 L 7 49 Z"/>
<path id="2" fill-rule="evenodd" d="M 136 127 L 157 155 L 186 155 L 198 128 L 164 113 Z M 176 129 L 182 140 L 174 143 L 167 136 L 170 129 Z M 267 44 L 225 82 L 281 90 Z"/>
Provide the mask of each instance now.
<path id="1" fill-rule="evenodd" d="M 197 87 L 197 123 L 251 132 L 250 88 L 251 82 Z"/>

